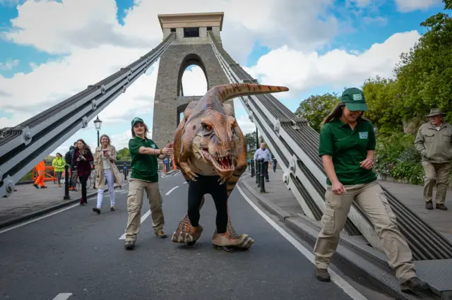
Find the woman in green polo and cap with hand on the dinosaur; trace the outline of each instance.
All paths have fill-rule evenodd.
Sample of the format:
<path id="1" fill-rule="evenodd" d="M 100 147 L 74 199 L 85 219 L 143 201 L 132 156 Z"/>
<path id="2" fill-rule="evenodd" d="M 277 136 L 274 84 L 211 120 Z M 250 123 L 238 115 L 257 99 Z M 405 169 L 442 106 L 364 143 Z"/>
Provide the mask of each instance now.
<path id="1" fill-rule="evenodd" d="M 129 179 L 129 196 L 127 197 L 127 210 L 129 220 L 126 227 L 126 244 L 124 248 L 135 248 L 136 237 L 141 226 L 141 207 L 143 206 L 144 191 L 148 195 L 150 217 L 153 220 L 153 230 L 156 236 L 165 239 L 163 232 L 165 218 L 162 210 L 162 196 L 158 186 L 157 157 L 164 160 L 172 155 L 172 143 L 159 149 L 154 141 L 147 137 L 148 126 L 141 118 L 133 118 L 132 137 L 129 140 L 131 156 L 131 175 Z"/>

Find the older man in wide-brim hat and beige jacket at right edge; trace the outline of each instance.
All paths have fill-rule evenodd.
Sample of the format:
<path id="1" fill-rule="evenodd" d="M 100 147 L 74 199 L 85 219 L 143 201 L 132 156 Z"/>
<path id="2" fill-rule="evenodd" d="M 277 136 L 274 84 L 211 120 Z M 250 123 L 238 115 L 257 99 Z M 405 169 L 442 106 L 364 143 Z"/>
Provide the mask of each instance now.
<path id="1" fill-rule="evenodd" d="M 426 116 L 429 122 L 420 126 L 415 139 L 425 171 L 425 208 L 433 209 L 432 195 L 436 181 L 436 208 L 447 210 L 444 201 L 452 167 L 452 126 L 443 120 L 445 114 L 439 108 L 431 109 Z"/>

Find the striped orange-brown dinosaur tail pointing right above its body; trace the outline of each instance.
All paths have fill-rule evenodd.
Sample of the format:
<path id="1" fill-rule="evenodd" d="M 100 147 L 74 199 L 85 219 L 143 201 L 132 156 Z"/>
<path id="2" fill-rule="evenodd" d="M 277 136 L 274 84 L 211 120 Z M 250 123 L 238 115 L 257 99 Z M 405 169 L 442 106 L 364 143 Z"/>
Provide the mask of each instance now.
<path id="1" fill-rule="evenodd" d="M 209 94 L 217 96 L 220 102 L 245 95 L 268 94 L 270 92 L 287 92 L 289 88 L 276 85 L 259 85 L 254 83 L 231 83 L 217 85 L 210 89 Z"/>

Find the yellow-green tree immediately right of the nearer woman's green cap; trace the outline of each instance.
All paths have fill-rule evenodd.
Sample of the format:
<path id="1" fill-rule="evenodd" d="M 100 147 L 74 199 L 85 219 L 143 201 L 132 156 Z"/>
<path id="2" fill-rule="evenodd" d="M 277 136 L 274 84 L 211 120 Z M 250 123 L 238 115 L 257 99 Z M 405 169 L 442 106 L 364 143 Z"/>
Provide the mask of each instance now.
<path id="1" fill-rule="evenodd" d="M 379 133 L 400 132 L 403 128 L 403 107 L 400 105 L 397 81 L 376 76 L 364 82 L 362 91 L 369 107 L 364 117 L 379 128 Z"/>

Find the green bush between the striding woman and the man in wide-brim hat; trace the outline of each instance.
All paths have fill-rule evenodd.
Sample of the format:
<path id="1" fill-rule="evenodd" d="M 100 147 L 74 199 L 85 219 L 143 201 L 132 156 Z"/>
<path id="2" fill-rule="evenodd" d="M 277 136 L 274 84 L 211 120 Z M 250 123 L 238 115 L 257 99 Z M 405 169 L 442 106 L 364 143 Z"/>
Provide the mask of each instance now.
<path id="1" fill-rule="evenodd" d="M 415 149 L 414 141 L 415 136 L 406 133 L 379 136 L 376 140 L 376 172 L 410 184 L 423 184 L 422 157 Z"/>

